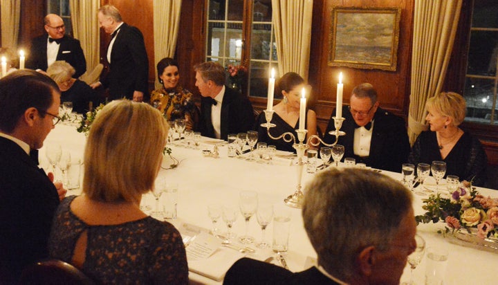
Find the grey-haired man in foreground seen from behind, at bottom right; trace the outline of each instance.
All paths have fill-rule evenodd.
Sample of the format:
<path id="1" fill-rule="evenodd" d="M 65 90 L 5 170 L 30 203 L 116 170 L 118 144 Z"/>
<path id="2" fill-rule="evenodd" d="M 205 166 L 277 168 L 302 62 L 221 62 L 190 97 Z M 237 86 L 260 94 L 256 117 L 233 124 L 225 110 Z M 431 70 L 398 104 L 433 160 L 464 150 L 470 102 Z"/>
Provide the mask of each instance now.
<path id="1" fill-rule="evenodd" d="M 243 258 L 223 284 L 399 284 L 416 248 L 405 186 L 369 169 L 333 167 L 317 174 L 305 193 L 302 217 L 317 266 L 292 273 Z"/>

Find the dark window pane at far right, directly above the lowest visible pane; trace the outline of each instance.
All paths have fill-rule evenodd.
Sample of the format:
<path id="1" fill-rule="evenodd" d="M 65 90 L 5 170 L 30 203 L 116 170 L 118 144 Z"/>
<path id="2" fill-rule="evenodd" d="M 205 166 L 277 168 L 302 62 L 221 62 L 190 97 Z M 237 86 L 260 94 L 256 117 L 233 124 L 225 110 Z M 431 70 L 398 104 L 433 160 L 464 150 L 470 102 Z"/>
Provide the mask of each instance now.
<path id="1" fill-rule="evenodd" d="M 498 31 L 472 30 L 467 74 L 495 76 L 497 55 Z"/>

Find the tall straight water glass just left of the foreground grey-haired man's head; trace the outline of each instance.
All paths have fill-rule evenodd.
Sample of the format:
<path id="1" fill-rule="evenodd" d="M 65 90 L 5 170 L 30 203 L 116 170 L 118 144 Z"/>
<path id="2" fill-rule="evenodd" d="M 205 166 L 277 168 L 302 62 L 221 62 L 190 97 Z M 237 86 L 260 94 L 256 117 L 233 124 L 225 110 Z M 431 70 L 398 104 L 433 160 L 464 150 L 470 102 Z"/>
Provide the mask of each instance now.
<path id="1" fill-rule="evenodd" d="M 279 205 L 273 210 L 273 251 L 286 252 L 291 230 L 291 210 Z"/>

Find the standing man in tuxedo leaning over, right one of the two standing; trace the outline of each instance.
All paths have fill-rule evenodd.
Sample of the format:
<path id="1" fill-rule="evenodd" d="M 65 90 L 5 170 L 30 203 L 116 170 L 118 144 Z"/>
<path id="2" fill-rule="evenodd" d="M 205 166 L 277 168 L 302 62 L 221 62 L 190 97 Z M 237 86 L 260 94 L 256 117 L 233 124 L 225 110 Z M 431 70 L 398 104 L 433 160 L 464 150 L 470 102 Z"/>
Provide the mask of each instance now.
<path id="1" fill-rule="evenodd" d="M 149 59 L 142 33 L 124 23 L 118 8 L 112 5 L 100 7 L 98 21 L 100 28 L 111 35 L 105 55 L 109 72 L 102 82 L 91 84 L 91 87 L 108 88 L 110 100 L 128 98 L 137 102 L 147 101 Z"/>

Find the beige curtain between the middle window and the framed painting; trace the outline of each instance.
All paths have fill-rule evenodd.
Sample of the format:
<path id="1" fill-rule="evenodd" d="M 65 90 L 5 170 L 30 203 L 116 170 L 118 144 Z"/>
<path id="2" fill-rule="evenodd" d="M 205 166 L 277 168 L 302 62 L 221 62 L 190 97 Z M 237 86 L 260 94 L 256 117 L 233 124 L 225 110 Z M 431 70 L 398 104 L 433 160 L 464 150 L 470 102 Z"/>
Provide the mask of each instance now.
<path id="1" fill-rule="evenodd" d="M 308 80 L 313 0 L 272 0 L 279 76 L 290 71 Z"/>

